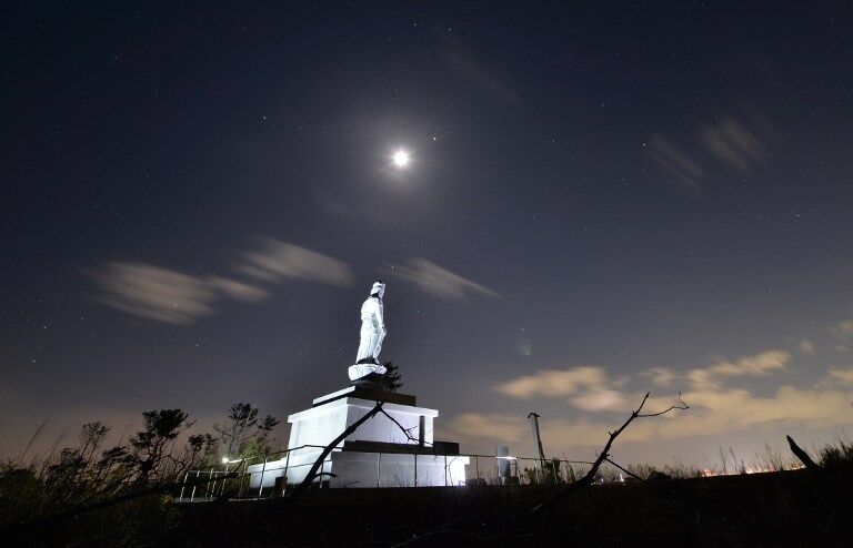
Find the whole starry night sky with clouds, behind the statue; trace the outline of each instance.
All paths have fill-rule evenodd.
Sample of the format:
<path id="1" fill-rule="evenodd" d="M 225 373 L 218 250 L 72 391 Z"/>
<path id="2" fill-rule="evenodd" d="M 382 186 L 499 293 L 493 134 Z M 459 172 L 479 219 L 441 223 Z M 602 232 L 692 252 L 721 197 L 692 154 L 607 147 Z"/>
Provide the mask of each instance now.
<path id="1" fill-rule="evenodd" d="M 851 433 L 850 4 L 268 3 L 3 10 L 0 455 L 283 419 L 377 278 L 463 451 L 585 459 L 646 390 L 692 407 L 622 461 Z"/>

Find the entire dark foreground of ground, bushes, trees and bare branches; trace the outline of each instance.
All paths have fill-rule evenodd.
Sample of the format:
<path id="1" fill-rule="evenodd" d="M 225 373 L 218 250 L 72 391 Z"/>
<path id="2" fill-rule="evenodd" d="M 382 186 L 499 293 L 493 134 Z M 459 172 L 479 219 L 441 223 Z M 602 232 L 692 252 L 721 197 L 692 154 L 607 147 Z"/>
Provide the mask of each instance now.
<path id="1" fill-rule="evenodd" d="M 585 473 L 544 476 L 549 485 L 317 489 L 309 477 L 279 498 L 233 500 L 238 489 L 221 488 L 195 504 L 174 499 L 185 473 L 269 453 L 273 417 L 235 404 L 214 435 L 190 435 L 184 412 L 149 412 L 112 447 L 109 428 L 89 424 L 73 447 L 0 464 L 0 546 L 851 546 L 853 445 L 812 460 L 791 440 L 805 468 L 767 474 L 621 467 L 610 449 L 632 420 L 686 408 L 643 414 L 643 404 Z M 351 428 L 381 413 L 378 403 Z"/>

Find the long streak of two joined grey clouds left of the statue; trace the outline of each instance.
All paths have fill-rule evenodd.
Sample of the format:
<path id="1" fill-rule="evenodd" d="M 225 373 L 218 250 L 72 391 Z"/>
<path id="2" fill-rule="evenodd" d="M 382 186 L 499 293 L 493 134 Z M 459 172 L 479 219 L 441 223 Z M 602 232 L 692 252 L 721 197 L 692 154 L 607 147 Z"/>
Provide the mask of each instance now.
<path id="1" fill-rule="evenodd" d="M 245 252 L 229 267 L 254 278 L 251 282 L 214 274 L 191 275 L 140 262 L 110 262 L 90 272 L 98 286 L 96 300 L 123 313 L 188 325 L 213 314 L 228 301 L 259 303 L 270 297 L 264 284 L 307 280 L 350 285 L 347 263 L 278 240 L 263 239 L 260 250 Z"/>

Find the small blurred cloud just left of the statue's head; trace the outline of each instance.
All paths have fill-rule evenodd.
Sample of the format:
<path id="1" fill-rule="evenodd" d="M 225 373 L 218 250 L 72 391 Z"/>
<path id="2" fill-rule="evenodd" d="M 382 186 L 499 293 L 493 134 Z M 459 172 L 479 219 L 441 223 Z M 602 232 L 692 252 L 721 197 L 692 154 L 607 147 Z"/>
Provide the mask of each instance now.
<path id="1" fill-rule="evenodd" d="M 308 280 L 329 285 L 352 285 L 349 264 L 279 240 L 263 239 L 259 250 L 243 254 L 237 268 L 258 280 Z"/>

